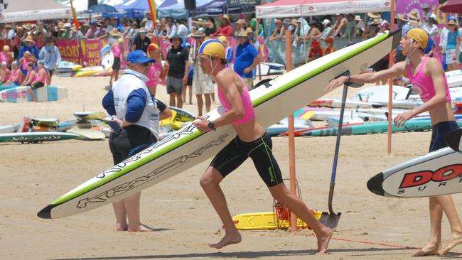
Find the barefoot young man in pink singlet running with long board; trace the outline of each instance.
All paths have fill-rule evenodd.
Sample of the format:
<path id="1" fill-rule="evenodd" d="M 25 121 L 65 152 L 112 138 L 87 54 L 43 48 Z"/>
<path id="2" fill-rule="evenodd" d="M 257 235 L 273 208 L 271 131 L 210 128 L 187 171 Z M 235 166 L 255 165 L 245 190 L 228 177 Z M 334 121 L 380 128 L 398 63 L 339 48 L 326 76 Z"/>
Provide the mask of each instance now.
<path id="1" fill-rule="evenodd" d="M 193 124 L 201 132 L 232 124 L 237 134 L 235 139 L 217 153 L 200 178 L 200 185 L 225 225 L 225 237 L 217 244 L 210 244 L 210 247 L 220 249 L 228 244 L 241 242 L 241 235 L 232 221 L 220 182 L 250 157 L 274 199 L 289 207 L 291 212 L 308 223 L 318 239 L 318 253 L 325 253 L 332 230 L 318 222 L 305 203 L 287 190 L 281 170 L 272 155 L 271 138 L 255 118 L 247 87 L 242 78 L 226 66 L 226 62 L 225 47 L 219 40 L 206 40 L 200 45 L 200 67 L 205 74 L 215 77 L 218 97 L 225 108 L 225 114 L 214 121 L 199 117 L 200 121 Z"/>

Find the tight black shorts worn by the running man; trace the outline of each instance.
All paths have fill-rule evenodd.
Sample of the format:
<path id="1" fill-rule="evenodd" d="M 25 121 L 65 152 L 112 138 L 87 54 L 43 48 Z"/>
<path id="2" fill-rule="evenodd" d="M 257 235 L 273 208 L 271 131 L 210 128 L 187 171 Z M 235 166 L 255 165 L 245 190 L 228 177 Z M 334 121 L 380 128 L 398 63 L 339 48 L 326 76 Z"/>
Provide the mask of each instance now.
<path id="1" fill-rule="evenodd" d="M 210 166 L 223 178 L 239 167 L 247 158 L 252 158 L 255 168 L 268 187 L 282 183 L 281 169 L 272 153 L 273 143 L 268 134 L 252 142 L 244 142 L 238 136 L 213 158 Z"/>

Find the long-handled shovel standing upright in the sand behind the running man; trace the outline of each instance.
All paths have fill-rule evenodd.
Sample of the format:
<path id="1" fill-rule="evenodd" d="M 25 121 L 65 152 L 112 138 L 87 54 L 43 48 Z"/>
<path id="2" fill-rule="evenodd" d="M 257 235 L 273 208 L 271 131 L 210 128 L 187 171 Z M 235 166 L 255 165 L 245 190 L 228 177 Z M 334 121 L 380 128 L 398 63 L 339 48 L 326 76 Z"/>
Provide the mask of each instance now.
<path id="1" fill-rule="evenodd" d="M 343 75 L 349 75 L 349 72 L 345 72 Z M 345 102 L 346 102 L 346 97 L 348 93 L 348 86 L 361 87 L 362 85 L 358 85 L 352 82 L 345 82 L 345 85 L 343 86 L 342 105 L 340 107 L 340 118 L 338 120 L 337 139 L 335 140 L 335 152 L 333 155 L 331 184 L 329 185 L 329 199 L 328 199 L 329 213 L 323 212 L 323 215 L 321 215 L 321 219 L 319 220 L 322 224 L 324 224 L 326 227 L 329 227 L 331 229 L 335 229 L 335 227 L 337 227 L 338 221 L 340 220 L 340 215 L 342 215 L 341 212 L 335 213 L 333 211 L 332 200 L 333 200 L 333 191 L 335 188 L 335 175 L 337 173 L 338 150 L 340 150 L 340 136 L 342 135 L 343 115 L 345 114 Z"/>

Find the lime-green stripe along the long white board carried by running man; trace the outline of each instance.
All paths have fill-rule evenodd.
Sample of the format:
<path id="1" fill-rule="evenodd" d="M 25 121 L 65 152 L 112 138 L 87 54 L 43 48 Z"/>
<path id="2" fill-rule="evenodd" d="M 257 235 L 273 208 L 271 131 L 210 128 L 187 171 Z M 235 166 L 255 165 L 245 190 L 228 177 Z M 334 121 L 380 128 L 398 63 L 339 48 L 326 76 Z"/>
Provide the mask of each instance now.
<path id="1" fill-rule="evenodd" d="M 382 34 L 381 36 L 377 36 L 373 40 L 370 41 L 370 43 L 366 43 L 365 45 L 361 45 L 360 47 L 356 48 L 355 50 L 351 50 L 349 53 L 345 53 L 344 55 L 341 55 L 338 58 L 335 58 L 331 60 L 330 62 L 326 63 L 325 65 L 322 65 L 320 67 L 315 68 L 314 70 L 311 70 L 310 72 L 306 73 L 306 75 L 303 75 L 297 79 L 294 79 L 290 82 L 287 82 L 285 85 L 282 87 L 277 88 L 276 90 L 273 90 L 272 92 L 269 92 L 267 94 L 264 94 L 262 97 L 259 97 L 255 99 L 252 104 L 254 107 L 257 107 L 259 104 L 262 104 L 263 102 L 267 101 L 268 99 L 271 99 L 272 97 L 277 96 L 278 94 L 281 94 L 282 92 L 285 92 L 286 90 L 291 89 L 292 87 L 295 87 L 296 85 L 299 85 L 301 82 L 304 82 L 311 77 L 314 77 L 318 75 L 319 73 L 328 70 L 329 68 L 338 65 L 339 63 L 343 63 L 343 61 L 348 60 L 349 58 L 352 58 L 355 55 L 358 55 L 358 53 L 362 53 L 364 50 L 367 50 L 368 48 L 371 48 L 374 45 L 377 45 L 377 43 L 382 42 L 383 40 L 387 39 L 389 36 L 389 33 Z M 391 50 L 390 50 L 391 51 Z M 76 190 L 73 193 L 70 193 L 68 195 L 63 195 L 61 197 L 58 197 L 55 201 L 51 202 L 51 205 L 58 205 L 62 204 L 64 202 L 67 202 L 69 200 L 74 199 L 75 197 L 78 197 L 82 194 L 85 194 L 87 192 L 90 192 L 91 190 L 98 188 L 106 183 L 109 183 L 110 181 L 119 178 L 122 175 L 125 175 L 126 173 L 131 172 L 131 170 L 134 170 L 136 168 L 139 168 L 141 166 L 144 166 L 146 163 L 149 163 L 150 161 L 153 161 L 156 158 L 159 158 L 160 156 L 163 156 L 165 153 L 168 153 L 169 151 L 172 151 L 175 148 L 178 148 L 179 146 L 183 146 L 183 144 L 188 143 L 189 141 L 192 141 L 193 139 L 196 139 L 198 136 L 202 135 L 199 131 L 194 131 L 192 134 L 189 134 L 188 136 L 183 137 L 183 139 L 180 139 L 176 142 L 173 142 L 169 144 L 168 146 L 161 148 L 159 151 L 156 151 L 155 153 L 149 154 L 148 156 L 139 159 L 138 161 L 131 163 L 129 166 L 125 166 L 122 168 L 117 173 L 112 173 L 111 175 L 107 175 L 105 178 L 102 178 L 100 180 L 97 180 L 95 183 L 92 183 L 90 185 L 87 185 L 86 187 L 80 188 L 80 190 Z"/>

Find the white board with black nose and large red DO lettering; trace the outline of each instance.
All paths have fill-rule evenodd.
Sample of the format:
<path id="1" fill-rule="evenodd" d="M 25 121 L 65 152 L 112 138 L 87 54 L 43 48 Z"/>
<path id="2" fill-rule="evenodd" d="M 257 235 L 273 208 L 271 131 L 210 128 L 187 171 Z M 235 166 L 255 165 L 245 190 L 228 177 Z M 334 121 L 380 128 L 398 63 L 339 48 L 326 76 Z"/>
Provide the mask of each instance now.
<path id="1" fill-rule="evenodd" d="M 462 192 L 462 153 L 446 147 L 382 171 L 367 188 L 385 197 L 428 197 Z"/>

